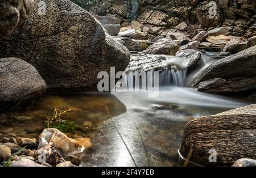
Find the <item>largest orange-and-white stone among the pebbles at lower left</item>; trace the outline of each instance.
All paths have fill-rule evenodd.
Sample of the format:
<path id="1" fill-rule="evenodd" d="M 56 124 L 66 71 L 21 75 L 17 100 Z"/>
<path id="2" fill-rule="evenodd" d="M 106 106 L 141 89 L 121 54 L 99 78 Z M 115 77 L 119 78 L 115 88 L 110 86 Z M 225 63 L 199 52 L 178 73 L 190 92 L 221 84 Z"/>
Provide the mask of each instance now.
<path id="1" fill-rule="evenodd" d="M 74 139 L 68 138 L 67 135 L 61 133 L 57 129 L 44 129 L 39 136 L 39 141 L 42 141 L 41 138 L 44 138 L 48 143 L 53 143 L 53 147 L 62 156 L 75 154 L 76 152 L 84 150 L 83 146 L 77 143 Z"/>

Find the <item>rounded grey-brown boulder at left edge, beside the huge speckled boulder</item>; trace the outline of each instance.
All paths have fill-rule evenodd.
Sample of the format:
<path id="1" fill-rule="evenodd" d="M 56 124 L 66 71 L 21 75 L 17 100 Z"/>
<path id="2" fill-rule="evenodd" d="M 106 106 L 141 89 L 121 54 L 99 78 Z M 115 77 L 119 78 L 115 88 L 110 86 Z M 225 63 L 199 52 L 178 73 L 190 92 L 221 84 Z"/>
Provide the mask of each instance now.
<path id="1" fill-rule="evenodd" d="M 34 100 L 46 90 L 38 71 L 18 58 L 0 58 L 0 110 Z"/>

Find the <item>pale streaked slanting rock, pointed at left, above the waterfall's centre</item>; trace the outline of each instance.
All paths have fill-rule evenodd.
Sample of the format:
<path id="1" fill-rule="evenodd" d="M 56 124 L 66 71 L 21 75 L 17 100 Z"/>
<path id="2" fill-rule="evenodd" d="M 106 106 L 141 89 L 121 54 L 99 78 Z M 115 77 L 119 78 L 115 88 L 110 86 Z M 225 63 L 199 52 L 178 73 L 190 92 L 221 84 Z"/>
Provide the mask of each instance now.
<path id="1" fill-rule="evenodd" d="M 175 48 L 176 46 L 178 46 L 177 42 L 167 37 L 156 41 L 155 44 L 149 46 L 143 52 L 146 54 L 167 54 L 170 52 L 170 48 Z"/>

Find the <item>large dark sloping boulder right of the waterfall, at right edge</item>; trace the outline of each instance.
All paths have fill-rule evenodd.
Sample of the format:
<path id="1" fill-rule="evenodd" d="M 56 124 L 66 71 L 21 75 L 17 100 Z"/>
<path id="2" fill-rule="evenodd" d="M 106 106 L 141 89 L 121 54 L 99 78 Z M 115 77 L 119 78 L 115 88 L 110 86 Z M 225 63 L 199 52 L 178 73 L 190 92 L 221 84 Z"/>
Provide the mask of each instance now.
<path id="1" fill-rule="evenodd" d="M 256 46 L 214 62 L 193 84 L 218 94 L 256 90 Z"/>

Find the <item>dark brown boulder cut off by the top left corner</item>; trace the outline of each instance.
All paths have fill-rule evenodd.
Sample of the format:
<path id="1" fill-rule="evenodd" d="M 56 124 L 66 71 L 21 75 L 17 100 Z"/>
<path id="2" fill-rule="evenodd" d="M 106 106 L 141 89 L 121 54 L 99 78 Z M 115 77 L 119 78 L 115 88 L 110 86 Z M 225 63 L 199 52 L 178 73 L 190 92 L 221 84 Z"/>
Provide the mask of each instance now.
<path id="1" fill-rule="evenodd" d="M 22 25 L 34 6 L 34 0 L 1 0 L 0 37 L 9 36 L 16 27 Z"/>

